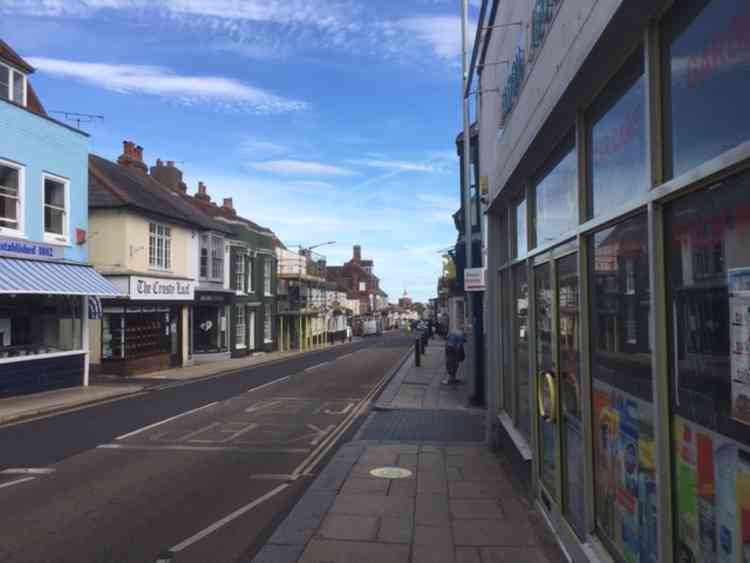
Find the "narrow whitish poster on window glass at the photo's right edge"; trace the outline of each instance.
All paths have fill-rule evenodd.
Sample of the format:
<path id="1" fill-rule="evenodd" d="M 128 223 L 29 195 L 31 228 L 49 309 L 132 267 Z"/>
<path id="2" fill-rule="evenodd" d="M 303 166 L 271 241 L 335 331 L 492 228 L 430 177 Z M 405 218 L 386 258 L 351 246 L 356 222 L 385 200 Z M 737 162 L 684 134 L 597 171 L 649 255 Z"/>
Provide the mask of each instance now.
<path id="1" fill-rule="evenodd" d="M 732 418 L 750 424 L 750 268 L 729 270 Z"/>

